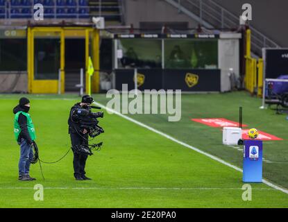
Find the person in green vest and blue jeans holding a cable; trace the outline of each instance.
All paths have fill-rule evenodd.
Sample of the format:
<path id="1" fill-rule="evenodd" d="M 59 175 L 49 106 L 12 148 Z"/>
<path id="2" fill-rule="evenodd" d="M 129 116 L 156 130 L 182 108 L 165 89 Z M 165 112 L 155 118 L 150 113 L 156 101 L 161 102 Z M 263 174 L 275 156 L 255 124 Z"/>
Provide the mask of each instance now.
<path id="1" fill-rule="evenodd" d="M 19 180 L 31 181 L 36 180 L 29 175 L 31 159 L 33 158 L 33 141 L 36 139 L 35 128 L 28 111 L 30 109 L 30 101 L 22 97 L 19 104 L 13 109 L 14 118 L 14 134 L 17 143 L 20 146 L 19 159 Z"/>

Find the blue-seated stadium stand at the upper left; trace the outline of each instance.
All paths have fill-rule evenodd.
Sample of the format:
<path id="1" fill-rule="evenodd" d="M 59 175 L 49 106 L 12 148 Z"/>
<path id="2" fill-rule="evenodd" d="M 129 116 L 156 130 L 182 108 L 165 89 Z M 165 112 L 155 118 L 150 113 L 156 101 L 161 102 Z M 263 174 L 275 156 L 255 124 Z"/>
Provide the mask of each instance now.
<path id="1" fill-rule="evenodd" d="M 89 19 L 105 17 L 105 21 L 121 24 L 118 0 L 0 0 L 0 19 L 31 19 L 33 5 L 44 6 L 44 19 Z"/>

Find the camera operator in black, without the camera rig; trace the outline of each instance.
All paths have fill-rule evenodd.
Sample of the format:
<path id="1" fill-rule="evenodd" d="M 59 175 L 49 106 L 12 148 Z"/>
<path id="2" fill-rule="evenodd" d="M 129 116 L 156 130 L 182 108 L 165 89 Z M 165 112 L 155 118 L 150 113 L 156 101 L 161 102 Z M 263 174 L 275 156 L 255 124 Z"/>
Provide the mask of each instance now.
<path id="1" fill-rule="evenodd" d="M 93 103 L 93 98 L 89 95 L 82 97 L 81 103 L 76 103 L 70 111 L 68 124 L 71 137 L 72 151 L 74 153 L 73 167 L 76 180 L 91 180 L 85 176 L 85 164 L 88 155 L 77 152 L 77 146 L 88 144 L 88 130 L 81 128 L 81 117 L 87 116 L 90 111 L 88 105 Z"/>

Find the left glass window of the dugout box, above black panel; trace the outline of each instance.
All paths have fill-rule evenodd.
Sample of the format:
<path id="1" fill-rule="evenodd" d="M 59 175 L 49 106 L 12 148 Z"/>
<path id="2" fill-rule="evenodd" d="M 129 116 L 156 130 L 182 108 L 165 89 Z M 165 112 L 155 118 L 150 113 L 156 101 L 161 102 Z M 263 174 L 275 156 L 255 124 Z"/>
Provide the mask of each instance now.
<path id="1" fill-rule="evenodd" d="M 118 40 L 118 68 L 161 68 L 161 40 Z"/>

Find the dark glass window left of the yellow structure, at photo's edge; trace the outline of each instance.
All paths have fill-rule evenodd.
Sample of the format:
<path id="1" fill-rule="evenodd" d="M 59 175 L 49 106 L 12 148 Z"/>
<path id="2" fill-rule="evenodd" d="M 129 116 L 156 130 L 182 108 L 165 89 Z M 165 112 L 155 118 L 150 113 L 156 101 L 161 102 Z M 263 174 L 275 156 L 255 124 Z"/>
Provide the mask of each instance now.
<path id="1" fill-rule="evenodd" d="M 0 39 L 0 71 L 27 70 L 27 40 Z"/>

